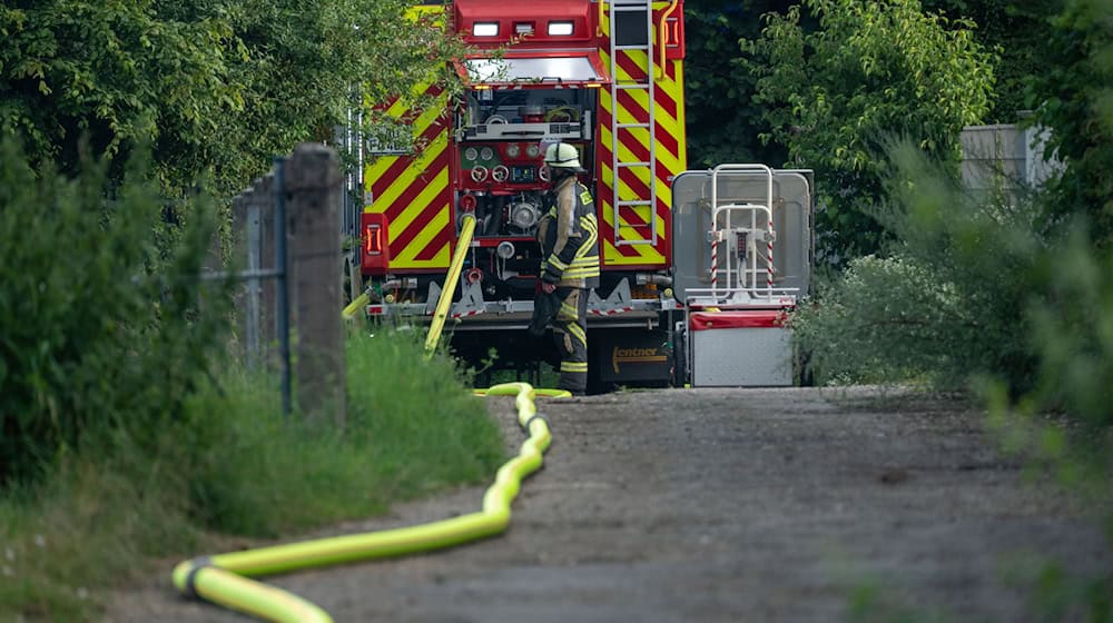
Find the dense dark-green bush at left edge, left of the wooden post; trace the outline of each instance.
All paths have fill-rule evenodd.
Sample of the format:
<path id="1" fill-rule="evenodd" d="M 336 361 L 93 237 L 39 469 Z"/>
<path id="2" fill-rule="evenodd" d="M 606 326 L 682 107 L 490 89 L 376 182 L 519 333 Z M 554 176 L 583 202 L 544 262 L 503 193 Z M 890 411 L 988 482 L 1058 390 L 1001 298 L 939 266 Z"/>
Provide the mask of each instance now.
<path id="1" fill-rule="evenodd" d="M 149 444 L 207 373 L 227 324 L 193 278 L 211 210 L 198 200 L 171 231 L 147 179 L 140 157 L 118 188 L 104 162 L 72 179 L 36 172 L 0 141 L 0 484 L 92 436 Z"/>

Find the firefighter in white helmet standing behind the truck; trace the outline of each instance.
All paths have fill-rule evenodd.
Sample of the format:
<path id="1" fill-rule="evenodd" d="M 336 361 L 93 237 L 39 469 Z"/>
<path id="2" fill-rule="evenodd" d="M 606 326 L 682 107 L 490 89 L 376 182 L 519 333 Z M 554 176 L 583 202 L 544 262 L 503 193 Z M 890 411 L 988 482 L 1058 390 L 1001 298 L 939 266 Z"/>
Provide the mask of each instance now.
<path id="1" fill-rule="evenodd" d="M 551 189 L 549 211 L 538 225 L 541 289 L 560 301 L 553 337 L 560 352 L 559 388 L 583 395 L 588 386 L 588 293 L 599 286 L 599 227 L 595 204 L 577 174 L 580 154 L 567 142 L 550 145 L 544 164 Z"/>

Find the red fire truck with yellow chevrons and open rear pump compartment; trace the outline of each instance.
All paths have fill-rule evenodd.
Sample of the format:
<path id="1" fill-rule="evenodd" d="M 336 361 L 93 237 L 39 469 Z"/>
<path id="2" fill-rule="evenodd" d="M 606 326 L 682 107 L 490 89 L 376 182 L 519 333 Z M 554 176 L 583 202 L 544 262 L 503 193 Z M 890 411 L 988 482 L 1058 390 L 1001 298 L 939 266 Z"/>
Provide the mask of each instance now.
<path id="1" fill-rule="evenodd" d="M 687 169 L 682 0 L 453 0 L 430 10 L 451 13 L 447 28 L 475 52 L 455 62 L 466 85 L 459 100 L 445 98 L 443 108 L 416 117 L 401 100 L 387 108 L 408 119 L 422 148 L 371 154 L 364 169 L 356 264 L 371 294 L 367 314 L 421 324 L 451 296 L 446 332 L 459 356 L 477 363 L 494 349 L 499 364 L 520 368 L 555 356 L 526 326 L 541 260 L 533 236 L 548 189 L 541 159 L 552 142 L 568 142 L 581 154 L 581 178 L 598 209 L 602 277 L 589 298 L 591 385 L 688 382 L 698 354 L 681 344 L 699 305 L 673 289 L 673 255 L 707 256 L 710 239 L 697 235 L 690 251 L 673 246 L 673 184 Z M 762 175 L 745 174 L 752 182 Z M 706 184 L 689 186 L 707 195 Z M 723 212 L 715 235 L 735 259 L 771 229 L 764 212 L 745 211 Z M 725 234 L 731 214 L 736 224 L 752 220 L 741 251 L 745 235 Z M 459 287 L 445 293 L 464 215 L 475 219 L 474 237 Z M 736 277 L 756 283 L 766 270 L 771 288 L 769 253 L 767 268 Z M 689 285 L 698 286 L 720 268 L 692 270 L 699 283 Z M 792 304 L 784 293 L 768 294 L 761 307 Z"/>

